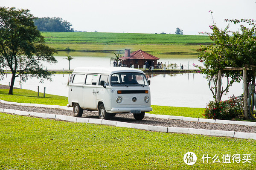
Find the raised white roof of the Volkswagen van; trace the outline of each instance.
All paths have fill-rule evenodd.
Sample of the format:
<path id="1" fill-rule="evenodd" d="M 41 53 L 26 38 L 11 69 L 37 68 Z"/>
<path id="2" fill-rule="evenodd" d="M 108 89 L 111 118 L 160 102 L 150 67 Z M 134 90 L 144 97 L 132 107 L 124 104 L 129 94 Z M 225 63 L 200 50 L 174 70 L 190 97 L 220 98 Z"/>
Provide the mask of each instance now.
<path id="1" fill-rule="evenodd" d="M 77 67 L 73 71 L 73 73 L 103 73 L 103 74 L 113 74 L 116 72 L 144 73 L 140 69 L 132 69 L 129 67 Z"/>

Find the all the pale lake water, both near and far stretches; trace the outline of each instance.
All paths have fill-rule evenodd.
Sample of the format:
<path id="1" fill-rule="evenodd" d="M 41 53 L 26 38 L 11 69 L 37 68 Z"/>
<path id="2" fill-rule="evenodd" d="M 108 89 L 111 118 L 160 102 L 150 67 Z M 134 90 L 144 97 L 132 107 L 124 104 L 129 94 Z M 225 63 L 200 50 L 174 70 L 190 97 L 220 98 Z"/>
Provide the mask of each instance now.
<path id="1" fill-rule="evenodd" d="M 47 69 L 68 69 L 68 61 L 63 58 L 66 57 L 66 52 L 59 52 L 55 58 L 57 64 L 44 63 Z M 80 66 L 110 66 L 110 58 L 112 53 L 93 53 L 93 52 L 70 52 L 75 59 L 70 61 L 70 69 Z M 177 63 L 178 66 L 183 64 L 184 69 L 193 69 L 192 64 L 201 65 L 198 62 L 197 55 L 155 55 L 160 58 L 162 63 Z M 209 90 L 208 82 L 204 75 L 189 73 L 189 74 L 160 74 L 147 75 L 148 80 L 151 80 L 151 104 L 160 106 L 175 106 L 175 107 L 206 107 L 206 104 L 211 101 L 212 93 Z M 55 75 L 52 77 L 53 81 L 44 81 L 44 84 L 39 83 L 36 78 L 29 79 L 26 83 L 22 83 L 23 89 L 38 90 L 53 95 L 68 96 L 68 82 L 69 75 Z M 0 81 L 0 84 L 9 85 L 11 75 L 5 76 L 5 79 Z M 20 78 L 15 79 L 15 87 L 20 88 Z M 222 100 L 228 99 L 230 95 L 241 95 L 243 93 L 242 83 L 233 84 L 230 92 L 222 97 Z"/>

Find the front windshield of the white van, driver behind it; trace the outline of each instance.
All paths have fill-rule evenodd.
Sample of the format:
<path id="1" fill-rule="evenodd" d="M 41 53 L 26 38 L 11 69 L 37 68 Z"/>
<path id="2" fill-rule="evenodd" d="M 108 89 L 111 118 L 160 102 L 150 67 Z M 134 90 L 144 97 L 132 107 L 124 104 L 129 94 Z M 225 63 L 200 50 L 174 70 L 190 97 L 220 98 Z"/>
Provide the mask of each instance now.
<path id="1" fill-rule="evenodd" d="M 141 73 L 120 72 L 111 75 L 111 86 L 148 86 L 148 81 Z"/>

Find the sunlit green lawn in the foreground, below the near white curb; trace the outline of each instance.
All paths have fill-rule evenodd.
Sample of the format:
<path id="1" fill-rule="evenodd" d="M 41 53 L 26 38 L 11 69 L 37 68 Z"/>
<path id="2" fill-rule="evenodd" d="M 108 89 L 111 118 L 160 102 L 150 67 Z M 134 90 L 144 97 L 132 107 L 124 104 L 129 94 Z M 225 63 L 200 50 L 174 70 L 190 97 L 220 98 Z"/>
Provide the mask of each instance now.
<path id="1" fill-rule="evenodd" d="M 159 133 L 0 113 L 0 169 L 255 169 L 255 140 Z M 187 152 L 198 161 L 183 162 Z M 221 163 L 202 163 L 203 154 Z M 251 163 L 222 163 L 250 154 Z"/>

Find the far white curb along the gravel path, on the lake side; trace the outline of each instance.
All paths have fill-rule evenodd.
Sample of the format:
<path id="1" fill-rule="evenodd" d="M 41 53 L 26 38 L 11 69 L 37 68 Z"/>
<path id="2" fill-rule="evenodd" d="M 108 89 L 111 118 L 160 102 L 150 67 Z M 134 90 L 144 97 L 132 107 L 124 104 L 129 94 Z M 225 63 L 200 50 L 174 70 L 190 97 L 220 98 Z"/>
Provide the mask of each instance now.
<path id="1" fill-rule="evenodd" d="M 0 103 L 3 104 L 15 104 L 19 106 L 32 106 L 32 107 L 46 107 L 53 109 L 64 109 L 64 110 L 73 110 L 72 107 L 66 106 L 58 106 L 58 105 L 48 105 L 48 104 L 30 104 L 30 103 L 17 103 L 0 100 Z M 174 116 L 174 115 L 155 115 L 150 113 L 145 113 L 145 116 L 151 118 L 163 118 L 163 119 L 175 119 L 175 120 L 183 120 L 183 121 L 195 121 L 195 122 L 205 122 L 205 123 L 215 123 L 215 124 L 236 124 L 243 126 L 256 126 L 256 122 L 251 121 L 229 121 L 229 120 L 219 120 L 219 119 L 207 119 L 207 118 L 191 118 L 184 116 Z"/>

